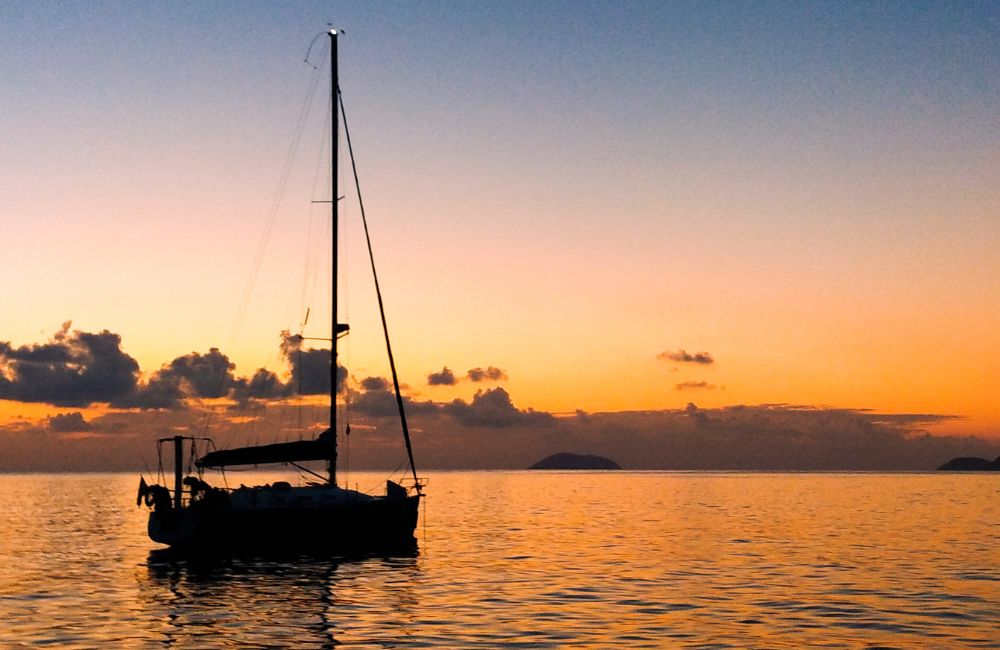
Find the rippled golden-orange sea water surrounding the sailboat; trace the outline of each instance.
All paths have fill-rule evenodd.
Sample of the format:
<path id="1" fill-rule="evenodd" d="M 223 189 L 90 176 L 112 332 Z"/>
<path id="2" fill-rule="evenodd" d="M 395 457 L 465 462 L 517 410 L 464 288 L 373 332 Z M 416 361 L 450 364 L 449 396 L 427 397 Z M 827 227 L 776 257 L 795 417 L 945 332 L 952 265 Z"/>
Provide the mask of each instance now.
<path id="1" fill-rule="evenodd" d="M 429 476 L 415 556 L 200 562 L 134 475 L 0 476 L 0 645 L 1000 647 L 996 475 Z"/>

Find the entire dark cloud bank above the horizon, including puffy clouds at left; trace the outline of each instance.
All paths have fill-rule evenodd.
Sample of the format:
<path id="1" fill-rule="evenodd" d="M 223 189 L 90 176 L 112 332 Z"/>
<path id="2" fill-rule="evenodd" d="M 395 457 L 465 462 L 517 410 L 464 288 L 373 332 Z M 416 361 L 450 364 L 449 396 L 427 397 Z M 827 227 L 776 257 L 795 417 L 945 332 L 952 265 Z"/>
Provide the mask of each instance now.
<path id="1" fill-rule="evenodd" d="M 106 330 L 70 332 L 67 324 L 45 344 L 0 342 L 0 399 L 68 411 L 0 425 L 0 471 L 141 469 L 156 437 L 202 435 L 209 413 L 211 435 L 223 445 L 313 436 L 324 426 L 326 407 L 315 408 L 312 424 L 296 429 L 288 422 L 296 420 L 290 414 L 298 396 L 328 392 L 329 351 L 302 349 L 293 338 L 282 350 L 287 368 L 281 375 L 261 368 L 238 377 L 226 355 L 212 348 L 177 357 L 142 380 L 120 337 Z M 491 370 L 497 371 L 492 377 Z M 506 376 L 492 367 L 483 372 L 484 380 Z M 467 378 L 477 381 L 472 371 Z M 403 451 L 389 382 L 350 379 L 338 368 L 338 388 L 351 416 L 352 466 L 397 466 Z M 227 406 L 219 405 L 223 397 Z M 950 419 L 934 414 L 689 404 L 556 417 L 518 408 L 500 387 L 479 390 L 468 401 L 406 395 L 403 401 L 418 466 L 427 469 L 524 468 L 558 451 L 608 456 L 629 469 L 702 470 L 928 470 L 955 456 L 1000 454 L 1000 440 L 929 435 L 928 427 Z M 111 410 L 87 417 L 70 410 L 91 404 Z"/>

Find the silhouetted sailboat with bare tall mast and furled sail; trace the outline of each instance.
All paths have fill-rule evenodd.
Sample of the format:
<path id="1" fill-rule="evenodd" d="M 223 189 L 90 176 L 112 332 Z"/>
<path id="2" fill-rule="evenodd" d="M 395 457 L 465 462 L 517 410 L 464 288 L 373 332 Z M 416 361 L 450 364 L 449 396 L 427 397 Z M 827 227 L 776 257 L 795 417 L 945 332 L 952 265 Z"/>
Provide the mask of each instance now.
<path id="1" fill-rule="evenodd" d="M 332 101 L 331 147 L 331 219 L 333 233 L 332 332 L 330 363 L 330 426 L 312 440 L 274 443 L 234 449 L 213 450 L 197 457 L 196 473 L 185 475 L 185 448 L 195 456 L 198 446 L 214 448 L 207 438 L 174 436 L 158 441 L 158 449 L 173 445 L 173 489 L 166 485 L 148 485 L 140 478 L 136 505 L 150 508 L 148 533 L 156 542 L 182 549 L 264 549 L 284 551 L 295 548 L 318 550 L 367 550 L 411 544 L 424 482 L 418 478 L 413 462 L 413 448 L 399 392 L 382 296 L 375 276 L 375 290 L 386 350 L 395 387 L 403 439 L 412 473 L 412 481 L 388 480 L 382 495 L 371 495 L 341 487 L 337 483 L 337 340 L 349 331 L 337 318 L 337 163 L 339 153 L 339 116 L 343 102 L 337 79 L 338 30 L 330 36 L 330 97 Z M 350 135 L 347 134 L 348 150 Z M 353 152 L 352 152 L 353 166 Z M 356 174 L 355 174 L 356 179 Z M 359 196 L 360 199 L 360 196 Z M 364 217 L 364 207 L 361 206 Z M 367 225 L 365 226 L 367 235 Z M 369 253 L 371 244 L 369 242 Z M 374 271 L 374 263 L 372 270 Z M 203 480 L 203 470 L 234 466 L 269 464 L 306 469 L 300 463 L 323 461 L 327 476 L 323 481 L 292 486 L 286 481 L 236 489 L 214 487 Z M 310 470 L 306 470 L 310 471 Z M 315 474 L 315 473 L 314 473 Z M 167 483 L 166 480 L 163 481 Z"/>

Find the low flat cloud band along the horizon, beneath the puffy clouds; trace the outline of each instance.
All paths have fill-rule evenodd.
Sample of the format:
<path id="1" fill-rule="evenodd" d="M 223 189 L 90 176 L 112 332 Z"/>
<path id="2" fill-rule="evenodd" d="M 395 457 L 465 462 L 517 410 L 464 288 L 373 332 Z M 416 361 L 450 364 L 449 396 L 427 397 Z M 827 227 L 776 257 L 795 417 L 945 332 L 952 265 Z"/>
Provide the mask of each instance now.
<path id="1" fill-rule="evenodd" d="M 393 468 L 405 457 L 395 396 L 369 385 L 373 390 L 349 394 L 351 467 Z M 640 470 L 932 470 L 956 456 L 1000 455 L 1000 440 L 930 435 L 929 428 L 954 419 L 942 414 L 691 403 L 554 417 L 517 408 L 502 388 L 480 391 L 470 401 L 404 401 L 418 467 L 424 469 L 525 468 L 559 451 L 607 456 Z M 203 435 L 210 410 L 208 435 L 228 446 L 311 438 L 328 417 L 318 405 L 278 400 L 255 418 L 200 402 L 178 410 L 22 418 L 0 423 L 0 471 L 142 469 L 143 462 L 155 467 L 156 439 Z M 78 429 L 87 430 L 72 431 Z M 52 444 L 53 433 L 61 436 L 60 444 Z"/>

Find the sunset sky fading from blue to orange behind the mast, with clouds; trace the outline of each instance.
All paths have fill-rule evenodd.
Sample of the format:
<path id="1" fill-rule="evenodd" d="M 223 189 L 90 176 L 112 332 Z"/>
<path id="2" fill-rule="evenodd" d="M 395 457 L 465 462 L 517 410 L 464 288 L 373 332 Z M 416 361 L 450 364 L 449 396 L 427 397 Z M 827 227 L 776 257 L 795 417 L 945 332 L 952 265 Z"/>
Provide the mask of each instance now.
<path id="1" fill-rule="evenodd" d="M 707 421 L 998 451 L 995 3 L 0 0 L 6 469 L 52 436 L 90 445 L 57 468 L 131 466 L 124 431 L 301 401 L 281 332 L 330 324 L 327 23 L 432 464 L 533 462 L 442 442 L 497 426 L 638 466 L 628 435 Z M 357 217 L 363 400 L 388 371 Z"/>

